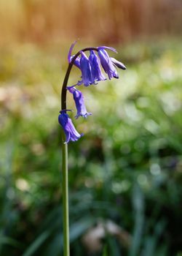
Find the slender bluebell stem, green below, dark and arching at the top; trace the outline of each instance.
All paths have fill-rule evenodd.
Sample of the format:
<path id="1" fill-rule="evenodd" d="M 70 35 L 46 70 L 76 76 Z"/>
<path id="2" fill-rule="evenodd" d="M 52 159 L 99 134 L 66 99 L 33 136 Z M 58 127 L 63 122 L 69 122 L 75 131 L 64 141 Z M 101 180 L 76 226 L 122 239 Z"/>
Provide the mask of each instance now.
<path id="1" fill-rule="evenodd" d="M 86 50 L 98 50 L 97 48 L 84 48 Z M 80 51 L 76 53 L 71 63 L 68 65 L 66 76 L 63 81 L 63 87 L 61 91 L 61 110 L 66 110 L 66 86 L 68 84 L 68 78 L 73 67 L 74 61 L 79 56 Z M 62 171 L 63 171 L 63 250 L 64 256 L 70 255 L 69 249 L 69 207 L 68 207 L 68 144 L 64 143 L 66 136 L 62 131 Z"/>

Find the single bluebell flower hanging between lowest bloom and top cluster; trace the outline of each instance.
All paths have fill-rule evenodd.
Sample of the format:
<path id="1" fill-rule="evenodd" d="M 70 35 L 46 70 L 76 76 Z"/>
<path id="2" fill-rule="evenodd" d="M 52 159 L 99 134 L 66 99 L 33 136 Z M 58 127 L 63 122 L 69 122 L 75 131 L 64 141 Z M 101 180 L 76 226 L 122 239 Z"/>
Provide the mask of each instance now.
<path id="1" fill-rule="evenodd" d="M 67 89 L 74 96 L 74 102 L 77 110 L 77 114 L 75 118 L 79 118 L 79 116 L 83 116 L 84 118 L 87 118 L 87 116 L 92 115 L 91 113 L 87 112 L 87 109 L 84 105 L 84 97 L 83 97 L 82 91 L 77 90 L 73 86 L 67 87 Z"/>

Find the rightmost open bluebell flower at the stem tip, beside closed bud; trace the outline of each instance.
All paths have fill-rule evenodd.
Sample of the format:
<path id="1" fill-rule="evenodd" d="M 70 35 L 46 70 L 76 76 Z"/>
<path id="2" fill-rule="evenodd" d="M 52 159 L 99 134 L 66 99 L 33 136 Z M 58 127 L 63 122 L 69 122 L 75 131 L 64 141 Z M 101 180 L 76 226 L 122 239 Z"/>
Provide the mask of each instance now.
<path id="1" fill-rule="evenodd" d="M 100 57 L 101 65 L 104 71 L 108 74 L 108 78 L 119 78 L 119 75 L 116 72 L 113 62 L 111 58 L 108 56 L 106 49 L 115 50 L 114 48 L 107 48 L 106 46 L 98 47 L 98 56 Z"/>

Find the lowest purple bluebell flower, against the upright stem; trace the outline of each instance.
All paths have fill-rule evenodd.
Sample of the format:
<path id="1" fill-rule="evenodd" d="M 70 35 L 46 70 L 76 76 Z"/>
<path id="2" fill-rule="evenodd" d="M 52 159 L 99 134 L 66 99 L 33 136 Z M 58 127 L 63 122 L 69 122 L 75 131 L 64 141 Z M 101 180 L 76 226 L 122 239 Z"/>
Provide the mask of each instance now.
<path id="1" fill-rule="evenodd" d="M 79 132 L 76 131 L 74 124 L 71 121 L 71 118 L 69 118 L 68 114 L 66 113 L 66 110 L 60 111 L 58 121 L 61 127 L 63 127 L 66 135 L 65 143 L 68 143 L 69 141 L 79 140 L 79 138 L 83 136 L 83 134 L 80 135 Z"/>

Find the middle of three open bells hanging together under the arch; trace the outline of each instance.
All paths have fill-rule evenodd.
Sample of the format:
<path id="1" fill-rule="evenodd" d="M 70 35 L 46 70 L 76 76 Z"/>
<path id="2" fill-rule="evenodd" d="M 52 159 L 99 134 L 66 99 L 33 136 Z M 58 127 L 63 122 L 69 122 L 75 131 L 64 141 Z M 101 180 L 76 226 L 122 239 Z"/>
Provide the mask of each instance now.
<path id="1" fill-rule="evenodd" d="M 90 50 L 89 60 L 92 68 L 92 78 L 95 81 L 106 80 L 105 76 L 103 75 L 100 69 L 100 60 L 97 54 L 95 54 L 94 50 Z"/>

